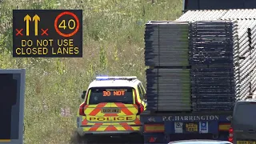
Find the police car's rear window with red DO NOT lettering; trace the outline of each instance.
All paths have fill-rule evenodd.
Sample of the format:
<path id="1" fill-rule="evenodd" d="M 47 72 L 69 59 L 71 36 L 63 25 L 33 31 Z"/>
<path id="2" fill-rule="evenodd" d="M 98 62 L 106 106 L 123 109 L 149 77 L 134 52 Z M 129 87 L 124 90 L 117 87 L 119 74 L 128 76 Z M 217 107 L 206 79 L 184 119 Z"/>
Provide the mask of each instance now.
<path id="1" fill-rule="evenodd" d="M 122 102 L 133 104 L 133 88 L 131 87 L 94 87 L 90 88 L 90 105 L 101 102 Z"/>

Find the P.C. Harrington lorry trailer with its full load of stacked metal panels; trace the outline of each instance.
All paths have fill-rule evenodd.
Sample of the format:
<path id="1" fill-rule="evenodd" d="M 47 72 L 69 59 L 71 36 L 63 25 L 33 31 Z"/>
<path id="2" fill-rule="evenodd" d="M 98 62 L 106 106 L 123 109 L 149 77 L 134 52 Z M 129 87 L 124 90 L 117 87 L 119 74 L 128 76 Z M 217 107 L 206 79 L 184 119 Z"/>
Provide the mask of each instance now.
<path id="1" fill-rule="evenodd" d="M 145 32 L 144 143 L 228 140 L 234 104 L 256 89 L 256 2 L 184 0 Z"/>

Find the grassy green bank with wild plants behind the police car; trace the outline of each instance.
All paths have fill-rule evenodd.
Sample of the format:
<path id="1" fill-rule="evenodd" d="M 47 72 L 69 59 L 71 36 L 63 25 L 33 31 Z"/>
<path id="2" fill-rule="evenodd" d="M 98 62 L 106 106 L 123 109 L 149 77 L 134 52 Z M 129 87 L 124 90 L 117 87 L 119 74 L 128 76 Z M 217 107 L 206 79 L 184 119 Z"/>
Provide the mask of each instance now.
<path id="1" fill-rule="evenodd" d="M 82 9 L 83 58 L 12 58 L 13 9 Z M 182 0 L 1 1 L 0 68 L 26 68 L 25 142 L 68 143 L 80 94 L 98 74 L 145 83 L 144 24 L 181 14 Z"/>

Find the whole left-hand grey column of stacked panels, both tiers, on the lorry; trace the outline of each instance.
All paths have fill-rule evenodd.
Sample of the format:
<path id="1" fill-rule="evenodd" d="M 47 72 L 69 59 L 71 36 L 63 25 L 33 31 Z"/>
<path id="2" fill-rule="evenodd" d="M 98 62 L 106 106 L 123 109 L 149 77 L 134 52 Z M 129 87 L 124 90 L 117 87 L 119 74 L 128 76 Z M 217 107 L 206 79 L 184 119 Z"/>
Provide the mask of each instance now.
<path id="1" fill-rule="evenodd" d="M 190 110 L 188 22 L 148 22 L 145 64 L 148 110 Z"/>

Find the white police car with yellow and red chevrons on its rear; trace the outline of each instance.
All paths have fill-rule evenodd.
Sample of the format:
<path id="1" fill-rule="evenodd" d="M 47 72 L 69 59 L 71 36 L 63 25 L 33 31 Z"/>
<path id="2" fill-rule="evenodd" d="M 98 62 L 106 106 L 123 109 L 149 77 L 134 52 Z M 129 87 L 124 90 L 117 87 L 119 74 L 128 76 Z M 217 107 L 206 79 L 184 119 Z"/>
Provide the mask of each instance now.
<path id="1" fill-rule="evenodd" d="M 146 90 L 137 77 L 96 77 L 79 107 L 78 134 L 139 134 Z"/>

